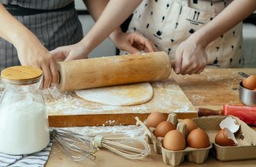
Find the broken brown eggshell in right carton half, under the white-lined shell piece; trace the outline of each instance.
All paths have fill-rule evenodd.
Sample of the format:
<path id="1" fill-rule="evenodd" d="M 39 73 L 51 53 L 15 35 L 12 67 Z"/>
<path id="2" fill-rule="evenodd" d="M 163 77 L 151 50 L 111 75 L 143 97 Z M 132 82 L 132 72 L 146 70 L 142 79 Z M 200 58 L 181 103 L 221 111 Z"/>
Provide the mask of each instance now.
<path id="1" fill-rule="evenodd" d="M 222 147 L 235 146 L 235 142 L 228 138 L 227 128 L 221 129 L 215 137 L 215 143 Z"/>

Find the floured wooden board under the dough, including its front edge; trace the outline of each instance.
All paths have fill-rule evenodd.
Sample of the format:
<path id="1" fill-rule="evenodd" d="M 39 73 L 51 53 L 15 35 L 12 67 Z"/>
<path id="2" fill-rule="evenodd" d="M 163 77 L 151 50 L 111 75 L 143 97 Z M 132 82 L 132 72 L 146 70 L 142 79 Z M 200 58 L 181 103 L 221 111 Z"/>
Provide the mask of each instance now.
<path id="1" fill-rule="evenodd" d="M 151 84 L 154 90 L 153 98 L 136 106 L 107 106 L 81 99 L 73 92 L 60 93 L 56 88 L 43 90 L 50 126 L 135 124 L 136 116 L 145 120 L 150 112 L 175 112 L 179 118 L 197 117 L 197 109 L 174 80 Z"/>

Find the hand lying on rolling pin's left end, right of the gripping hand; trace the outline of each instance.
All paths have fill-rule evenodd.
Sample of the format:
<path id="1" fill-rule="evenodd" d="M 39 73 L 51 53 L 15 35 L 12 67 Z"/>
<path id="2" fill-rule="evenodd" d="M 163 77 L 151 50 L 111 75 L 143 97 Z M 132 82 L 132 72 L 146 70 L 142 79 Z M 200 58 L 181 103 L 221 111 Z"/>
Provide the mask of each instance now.
<path id="1" fill-rule="evenodd" d="M 50 51 L 50 54 L 53 55 L 55 61 L 69 61 L 87 58 L 87 50 L 83 43 L 80 42 L 70 46 L 61 46 Z"/>

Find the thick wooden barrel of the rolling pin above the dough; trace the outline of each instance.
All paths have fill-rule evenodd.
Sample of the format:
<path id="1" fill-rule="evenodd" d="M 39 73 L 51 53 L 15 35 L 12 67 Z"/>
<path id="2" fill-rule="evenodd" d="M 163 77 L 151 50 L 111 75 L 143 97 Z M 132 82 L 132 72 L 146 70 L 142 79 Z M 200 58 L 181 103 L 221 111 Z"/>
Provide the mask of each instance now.
<path id="1" fill-rule="evenodd" d="M 69 91 L 164 80 L 171 74 L 171 61 L 165 52 L 149 52 L 61 61 L 57 68 L 58 89 Z"/>

